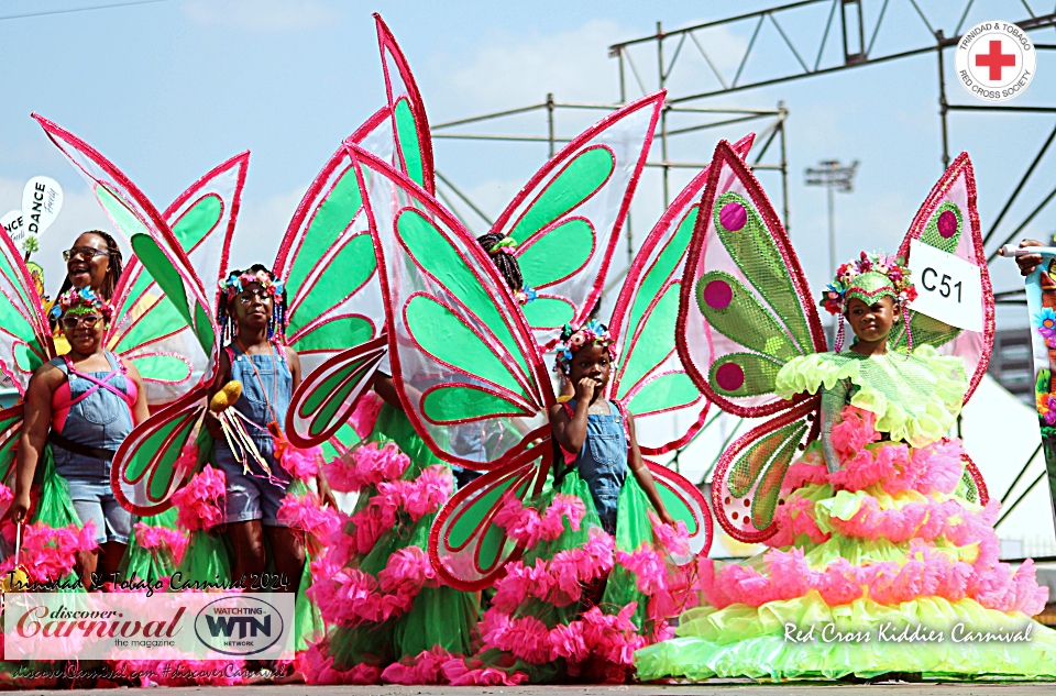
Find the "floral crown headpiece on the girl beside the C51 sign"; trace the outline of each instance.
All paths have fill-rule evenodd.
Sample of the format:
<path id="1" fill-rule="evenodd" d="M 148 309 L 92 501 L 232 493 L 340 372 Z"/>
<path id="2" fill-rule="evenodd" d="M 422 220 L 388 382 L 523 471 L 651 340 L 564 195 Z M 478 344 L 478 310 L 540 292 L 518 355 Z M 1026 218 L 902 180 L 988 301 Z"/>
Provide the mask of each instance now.
<path id="1" fill-rule="evenodd" d="M 911 272 L 901 256 L 886 255 L 883 252 L 867 254 L 861 252 L 858 258 L 836 269 L 836 277 L 822 294 L 822 307 L 832 314 L 842 316 L 847 311 L 847 302 L 858 298 L 872 305 L 881 297 L 890 295 L 902 310 L 909 328 L 910 302 L 916 299 L 916 288 L 910 279 Z M 840 320 L 836 334 L 836 352 L 844 345 L 844 322 Z M 910 350 L 912 351 L 912 338 Z"/>

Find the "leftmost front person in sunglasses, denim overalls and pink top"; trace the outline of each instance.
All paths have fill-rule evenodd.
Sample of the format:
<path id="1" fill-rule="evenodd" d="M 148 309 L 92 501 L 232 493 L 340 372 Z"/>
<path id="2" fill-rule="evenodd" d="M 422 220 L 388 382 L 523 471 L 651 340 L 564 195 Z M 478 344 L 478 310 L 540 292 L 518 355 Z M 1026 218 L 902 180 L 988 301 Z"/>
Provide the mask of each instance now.
<path id="1" fill-rule="evenodd" d="M 91 587 L 92 573 L 109 579 L 118 570 L 129 543 L 132 516 L 114 498 L 110 464 L 133 424 L 147 417 L 146 395 L 136 368 L 102 347 L 113 313 L 107 300 L 88 287 L 74 288 L 52 313 L 69 352 L 37 368 L 26 387 L 11 516 L 25 520 L 34 478 L 54 469 L 68 485 L 79 522 L 95 528 L 99 548 L 82 551 L 78 563 Z"/>

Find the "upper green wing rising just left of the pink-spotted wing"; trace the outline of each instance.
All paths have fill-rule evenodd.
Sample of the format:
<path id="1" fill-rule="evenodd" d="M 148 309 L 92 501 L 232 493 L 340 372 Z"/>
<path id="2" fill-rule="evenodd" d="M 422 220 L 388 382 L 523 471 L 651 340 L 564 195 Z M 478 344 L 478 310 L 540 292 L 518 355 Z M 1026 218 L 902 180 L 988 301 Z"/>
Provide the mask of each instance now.
<path id="1" fill-rule="evenodd" d="M 741 158 L 754 137 L 734 145 Z M 686 375 L 674 342 L 682 274 L 706 181 L 707 168 L 674 198 L 649 232 L 627 272 L 608 324 L 618 355 L 609 393 L 634 415 L 638 446 L 647 455 L 684 445 L 703 427 L 707 413 L 708 402 Z"/>

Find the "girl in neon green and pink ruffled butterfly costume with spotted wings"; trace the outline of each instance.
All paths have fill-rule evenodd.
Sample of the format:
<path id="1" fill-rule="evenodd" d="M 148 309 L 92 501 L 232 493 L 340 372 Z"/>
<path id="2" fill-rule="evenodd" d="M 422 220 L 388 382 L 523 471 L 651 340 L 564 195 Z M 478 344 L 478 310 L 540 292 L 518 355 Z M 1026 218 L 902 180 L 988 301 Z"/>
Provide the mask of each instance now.
<path id="1" fill-rule="evenodd" d="M 707 606 L 682 616 L 679 638 L 636 654 L 640 678 L 1056 676 L 1056 633 L 1030 619 L 1047 590 L 1030 562 L 998 562 L 998 506 L 960 441 L 945 438 L 971 384 L 965 361 L 935 347 L 956 330 L 911 311 L 901 258 L 864 253 L 822 296 L 848 319 L 854 345 L 811 351 L 824 339 L 777 216 L 723 145 L 712 166 L 680 349 L 707 366 L 696 378 L 724 409 L 783 409 L 724 454 L 713 484 L 727 532 L 771 549 L 743 564 L 702 563 Z M 980 264 L 966 155 L 903 250 L 912 239 Z M 771 357 L 750 362 L 757 355 Z M 788 406 L 758 398 L 768 394 Z M 793 462 L 812 430 L 820 439 Z"/>

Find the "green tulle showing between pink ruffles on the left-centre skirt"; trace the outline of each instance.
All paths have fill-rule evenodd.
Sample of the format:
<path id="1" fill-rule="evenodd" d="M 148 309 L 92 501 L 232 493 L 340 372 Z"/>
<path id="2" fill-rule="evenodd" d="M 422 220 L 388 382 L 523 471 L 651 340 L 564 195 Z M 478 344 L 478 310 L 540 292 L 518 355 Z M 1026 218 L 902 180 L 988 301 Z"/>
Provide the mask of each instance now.
<path id="1" fill-rule="evenodd" d="M 377 443 L 378 446 L 395 443 L 410 459 L 410 465 L 403 475 L 407 480 L 416 479 L 427 466 L 446 466 L 429 451 L 404 412 L 387 404 L 382 407 L 374 430 L 364 442 Z M 362 510 L 375 493 L 373 487 L 362 490 L 355 511 Z M 383 533 L 369 553 L 356 556 L 350 565 L 377 577 L 389 557 L 400 549 L 417 546 L 428 551 L 429 529 L 435 518 L 436 513 L 432 513 L 411 521 L 400 512 L 396 526 Z M 413 607 L 398 616 L 353 628 L 333 627 L 327 637 L 324 650 L 333 658 L 333 669 L 339 672 L 359 664 L 385 667 L 433 648 L 468 654 L 479 612 L 473 593 L 448 586 L 426 586 L 415 596 Z"/>

